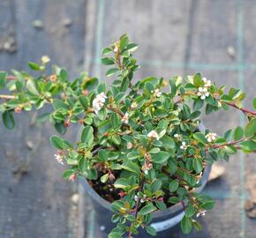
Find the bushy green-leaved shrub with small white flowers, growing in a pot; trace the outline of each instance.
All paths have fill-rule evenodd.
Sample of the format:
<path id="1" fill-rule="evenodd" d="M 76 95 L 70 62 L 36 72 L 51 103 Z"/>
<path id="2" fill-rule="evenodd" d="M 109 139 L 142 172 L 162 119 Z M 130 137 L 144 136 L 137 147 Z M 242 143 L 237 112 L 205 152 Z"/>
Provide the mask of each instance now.
<path id="1" fill-rule="evenodd" d="M 137 47 L 124 34 L 102 50 L 102 63 L 111 66 L 106 76 L 116 78 L 110 86 L 86 73 L 69 80 L 67 71 L 56 65 L 47 73 L 47 56 L 41 64 L 28 63 L 41 71 L 37 78 L 24 71 L 1 71 L 0 89 L 9 93 L 0 94 L 0 111 L 8 129 L 15 126 L 15 113 L 48 104 L 53 112 L 41 114 L 38 121 L 49 118 L 60 134 L 72 123 L 81 125 L 76 145 L 59 136 L 50 142 L 56 160 L 68 166 L 64 179 L 85 177 L 98 208 L 112 210 L 117 226 L 110 238 L 131 238 L 138 229 L 155 235 L 161 229 L 154 221 L 160 217 L 176 217 L 172 225 L 181 219 L 188 234 L 192 227 L 200 229 L 196 218 L 214 206 L 210 197 L 200 194 L 209 165 L 219 158 L 228 160 L 237 150 L 256 150 L 256 112 L 242 107 L 241 90 L 232 87 L 224 93 L 225 86 L 216 86 L 200 73 L 133 82 L 139 69 L 132 56 Z M 237 108 L 248 123 L 217 136 L 200 127 L 204 106 L 207 115 Z"/>

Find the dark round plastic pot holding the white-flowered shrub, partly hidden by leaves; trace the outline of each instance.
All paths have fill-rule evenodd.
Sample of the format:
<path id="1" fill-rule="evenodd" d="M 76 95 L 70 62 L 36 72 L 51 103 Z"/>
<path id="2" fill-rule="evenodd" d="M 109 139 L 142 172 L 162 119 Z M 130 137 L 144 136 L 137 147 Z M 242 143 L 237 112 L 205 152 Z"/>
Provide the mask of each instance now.
<path id="1" fill-rule="evenodd" d="M 204 130 L 204 127 L 202 125 L 200 125 L 199 128 L 200 130 Z M 211 165 L 207 165 L 207 167 L 205 167 L 204 169 L 204 173 L 201 178 L 202 185 L 200 186 L 200 188 L 195 189 L 195 192 L 200 193 L 201 190 L 204 189 L 204 187 L 207 184 L 210 171 L 211 171 Z M 104 228 L 102 231 L 102 237 L 103 238 L 108 237 L 108 234 L 111 231 L 111 229 L 115 227 L 115 224 L 111 222 L 111 217 L 113 215 L 113 212 L 111 212 L 110 210 L 109 201 L 103 199 L 90 186 L 90 184 L 87 182 L 85 178 L 80 178 L 79 181 L 83 185 L 87 194 L 91 197 L 92 203 L 94 205 L 96 220 L 99 226 Z M 169 237 L 169 234 L 171 233 L 170 228 L 175 227 L 183 217 L 184 217 L 184 209 L 183 209 L 183 206 L 179 203 L 177 205 L 173 205 L 169 207 L 167 210 L 163 212 L 161 211 L 154 212 L 151 226 L 154 227 L 154 229 L 157 231 L 158 234 L 162 234 L 162 235 L 166 234 L 166 236 L 164 235 L 162 237 Z M 151 236 L 147 234 L 144 230 L 140 229 L 139 235 L 133 236 L 133 237 L 146 238 Z"/>

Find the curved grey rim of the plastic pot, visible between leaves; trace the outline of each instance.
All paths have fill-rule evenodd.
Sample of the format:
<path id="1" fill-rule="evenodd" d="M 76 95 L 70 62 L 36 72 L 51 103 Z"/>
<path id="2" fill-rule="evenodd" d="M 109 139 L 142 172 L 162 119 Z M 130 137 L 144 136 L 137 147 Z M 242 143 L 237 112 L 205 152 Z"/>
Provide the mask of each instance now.
<path id="1" fill-rule="evenodd" d="M 205 127 L 202 123 L 200 123 L 199 129 L 200 130 L 205 130 Z M 208 177 L 210 175 L 211 167 L 212 167 L 212 165 L 207 163 L 207 166 L 205 167 L 202 178 L 201 178 L 202 185 L 199 188 L 196 188 L 194 190 L 194 192 L 200 193 L 205 188 L 205 186 L 207 184 Z M 87 194 L 90 197 L 92 197 L 94 199 L 94 201 L 96 201 L 98 204 L 102 205 L 104 208 L 109 210 L 109 212 L 112 212 L 111 209 L 110 209 L 111 203 L 109 201 L 107 201 L 106 199 L 102 198 L 91 187 L 91 185 L 87 182 L 87 179 L 85 177 L 79 177 L 79 182 L 82 183 L 82 185 L 83 185 L 84 189 L 86 190 Z M 160 218 L 162 216 L 168 216 L 170 214 L 177 213 L 181 210 L 183 210 L 183 206 L 179 202 L 176 205 L 171 205 L 169 208 L 167 208 L 164 211 L 155 211 L 155 212 L 153 212 L 153 218 Z"/>

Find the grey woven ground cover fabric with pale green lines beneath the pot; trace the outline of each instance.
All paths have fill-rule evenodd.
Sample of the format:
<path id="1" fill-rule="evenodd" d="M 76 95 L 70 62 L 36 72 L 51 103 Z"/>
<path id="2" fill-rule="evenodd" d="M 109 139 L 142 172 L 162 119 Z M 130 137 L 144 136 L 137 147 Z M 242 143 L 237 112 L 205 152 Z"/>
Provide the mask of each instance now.
<path id="1" fill-rule="evenodd" d="M 0 0 L 0 71 L 28 70 L 27 61 L 49 55 L 72 77 L 87 70 L 103 78 L 101 48 L 128 33 L 140 45 L 136 79 L 202 71 L 219 85 L 245 89 L 245 105 L 252 108 L 255 13 L 252 0 Z M 42 27 L 33 26 L 37 19 L 41 22 L 34 25 Z M 0 127 L 0 238 L 100 238 L 87 197 L 76 202 L 73 195 L 80 188 L 62 180 L 63 168 L 53 159 L 49 135 L 55 131 L 49 124 L 34 125 L 33 114 L 19 118 L 16 130 Z M 232 111 L 205 123 L 222 133 L 244 118 Z M 67 138 L 74 140 L 76 132 L 72 128 Z M 245 200 L 252 197 L 255 159 L 238 154 L 223 163 L 225 175 L 205 191 L 215 197 L 215 210 L 202 220 L 202 232 L 186 237 L 256 237 L 256 220 L 244 211 Z M 79 226 L 83 219 L 85 231 Z M 174 231 L 168 237 L 184 235 Z"/>

